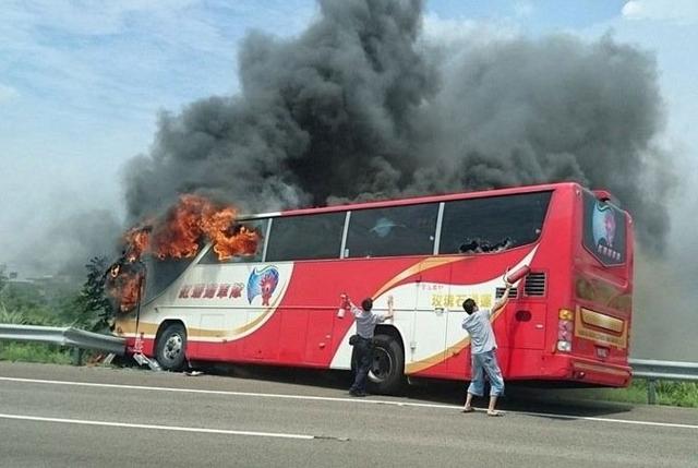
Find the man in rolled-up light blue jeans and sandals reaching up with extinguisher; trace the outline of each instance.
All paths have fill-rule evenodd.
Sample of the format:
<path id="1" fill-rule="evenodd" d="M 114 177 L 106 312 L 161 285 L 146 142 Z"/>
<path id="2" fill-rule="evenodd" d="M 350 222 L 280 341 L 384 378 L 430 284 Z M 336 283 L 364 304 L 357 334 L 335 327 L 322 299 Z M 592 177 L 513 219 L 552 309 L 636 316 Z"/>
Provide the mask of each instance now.
<path id="1" fill-rule="evenodd" d="M 468 314 L 462 321 L 462 327 L 470 335 L 470 353 L 472 376 L 466 396 L 466 406 L 462 412 L 472 412 L 472 396 L 482 396 L 484 393 L 484 374 L 490 379 L 490 405 L 488 416 L 502 416 L 502 412 L 494 409 L 497 397 L 504 394 L 504 379 L 497 364 L 497 343 L 494 338 L 494 331 L 490 322 L 493 314 L 506 305 L 509 300 L 512 285 L 505 283 L 506 288 L 502 298 L 494 303 L 492 310 L 480 310 L 473 299 L 466 299 L 462 308 Z"/>

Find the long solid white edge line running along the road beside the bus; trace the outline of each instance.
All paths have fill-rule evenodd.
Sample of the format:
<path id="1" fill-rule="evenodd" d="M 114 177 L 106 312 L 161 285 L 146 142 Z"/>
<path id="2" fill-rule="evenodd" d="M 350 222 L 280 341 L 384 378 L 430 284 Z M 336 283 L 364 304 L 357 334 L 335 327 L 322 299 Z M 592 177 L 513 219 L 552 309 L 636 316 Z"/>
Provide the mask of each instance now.
<path id="1" fill-rule="evenodd" d="M 341 401 L 353 403 L 364 405 L 390 405 L 390 406 L 405 406 L 405 407 L 418 407 L 418 408 L 438 408 L 438 409 L 460 409 L 460 406 L 454 405 L 438 405 L 430 403 L 408 403 L 408 401 L 390 401 L 382 399 L 366 399 L 366 398 L 339 398 L 339 397 L 326 397 L 326 396 L 312 396 L 312 395 L 285 395 L 285 394 L 269 394 L 269 393 L 252 393 L 252 392 L 229 392 L 229 391 L 207 391 L 198 388 L 167 388 L 167 387 L 154 387 L 142 385 L 121 385 L 121 384 L 98 384 L 92 382 L 67 382 L 67 381 L 50 381 L 39 379 L 20 379 L 20 377 L 2 377 L 0 381 L 10 382 L 26 382 L 48 385 L 75 385 L 75 386 L 88 386 L 88 387 L 103 387 L 103 388 L 125 388 L 137 389 L 148 392 L 176 392 L 176 393 L 190 393 L 190 394 L 206 394 L 206 395 L 227 395 L 227 396 L 249 396 L 255 398 L 285 398 L 285 399 L 300 399 L 300 400 L 316 400 L 316 401 Z M 524 415 L 533 417 L 557 418 L 566 420 L 585 420 L 597 422 L 610 422 L 617 424 L 636 424 L 636 425 L 652 425 L 661 428 L 679 428 L 679 429 L 696 429 L 698 424 L 681 424 L 674 422 L 657 422 L 657 421 L 636 421 L 629 419 L 614 419 L 614 418 L 600 418 L 595 416 L 574 416 L 574 415 L 556 415 L 551 412 L 529 412 L 529 411 L 504 411 L 512 415 Z M 312 436 L 311 436 L 312 437 Z"/>

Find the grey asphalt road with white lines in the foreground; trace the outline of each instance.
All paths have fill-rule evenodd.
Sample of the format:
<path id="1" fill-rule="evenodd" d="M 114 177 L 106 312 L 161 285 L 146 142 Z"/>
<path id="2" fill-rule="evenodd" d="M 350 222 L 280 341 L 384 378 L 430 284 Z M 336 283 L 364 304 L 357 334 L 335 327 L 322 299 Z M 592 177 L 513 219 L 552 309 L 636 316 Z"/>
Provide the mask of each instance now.
<path id="1" fill-rule="evenodd" d="M 490 418 L 455 385 L 351 398 L 346 380 L 0 362 L 0 466 L 698 467 L 696 409 L 539 392 Z"/>

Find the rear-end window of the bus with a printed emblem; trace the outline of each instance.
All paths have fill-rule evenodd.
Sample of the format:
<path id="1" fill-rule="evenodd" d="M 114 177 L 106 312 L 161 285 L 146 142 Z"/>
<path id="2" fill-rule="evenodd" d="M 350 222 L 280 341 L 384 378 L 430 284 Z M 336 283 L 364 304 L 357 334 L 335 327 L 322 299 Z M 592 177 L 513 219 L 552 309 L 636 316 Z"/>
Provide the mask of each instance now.
<path id="1" fill-rule="evenodd" d="M 625 263 L 625 213 L 585 191 L 583 244 L 604 265 Z"/>

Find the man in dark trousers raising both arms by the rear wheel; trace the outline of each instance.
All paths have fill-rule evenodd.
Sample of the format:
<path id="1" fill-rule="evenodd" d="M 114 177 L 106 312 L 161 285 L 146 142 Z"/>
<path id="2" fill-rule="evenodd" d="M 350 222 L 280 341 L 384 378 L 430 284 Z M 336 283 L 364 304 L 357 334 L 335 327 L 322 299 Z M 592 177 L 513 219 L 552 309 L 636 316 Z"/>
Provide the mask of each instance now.
<path id="1" fill-rule="evenodd" d="M 366 376 L 373 361 L 373 333 L 378 323 L 387 319 L 393 319 L 393 296 L 388 297 L 388 313 L 376 314 L 371 312 L 373 309 L 373 299 L 366 298 L 361 301 L 361 309 L 351 304 L 351 312 L 357 321 L 357 335 L 359 341 L 353 346 L 357 375 L 354 377 L 349 395 L 366 396 Z"/>

